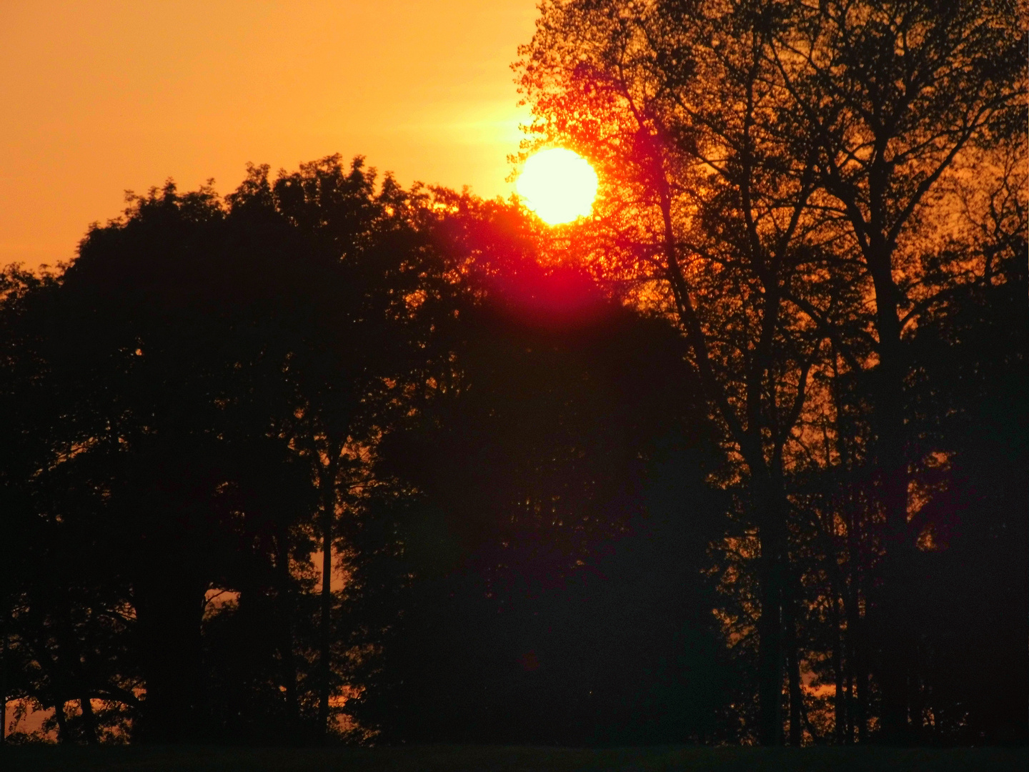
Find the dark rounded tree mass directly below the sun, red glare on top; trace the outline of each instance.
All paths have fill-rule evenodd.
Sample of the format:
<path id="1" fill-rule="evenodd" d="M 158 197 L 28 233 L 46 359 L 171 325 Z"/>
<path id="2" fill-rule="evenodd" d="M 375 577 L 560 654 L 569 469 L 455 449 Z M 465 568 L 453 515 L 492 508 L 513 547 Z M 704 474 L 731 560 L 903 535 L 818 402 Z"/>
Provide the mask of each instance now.
<path id="1" fill-rule="evenodd" d="M 358 715 L 422 742 L 713 738 L 730 678 L 700 568 L 724 503 L 682 344 L 541 268 L 524 213 L 448 200 L 475 289 L 439 341 L 453 372 L 380 449 L 413 488 L 379 515 L 410 584 L 372 596 L 406 611 Z"/>

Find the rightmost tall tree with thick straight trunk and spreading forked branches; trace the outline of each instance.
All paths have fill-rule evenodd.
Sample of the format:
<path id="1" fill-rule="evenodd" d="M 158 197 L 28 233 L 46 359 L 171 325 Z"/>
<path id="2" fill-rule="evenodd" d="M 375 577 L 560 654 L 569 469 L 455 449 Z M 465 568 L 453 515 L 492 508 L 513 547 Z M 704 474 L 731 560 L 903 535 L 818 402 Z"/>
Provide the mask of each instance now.
<path id="1" fill-rule="evenodd" d="M 987 148 L 1024 130 L 1026 28 L 1014 2 L 793 3 L 768 31 L 783 114 L 818 148 L 817 203 L 838 217 L 875 299 L 876 455 L 886 515 L 880 599 L 885 737 L 902 740 L 914 652 L 904 632 L 907 569 L 917 533 L 909 524 L 909 437 L 902 340 L 944 285 L 918 265 L 938 227 L 931 211 L 953 204 L 941 182 L 956 164 L 975 170 Z M 972 173 L 980 173 L 972 171 Z M 820 320 L 822 309 L 808 309 Z"/>

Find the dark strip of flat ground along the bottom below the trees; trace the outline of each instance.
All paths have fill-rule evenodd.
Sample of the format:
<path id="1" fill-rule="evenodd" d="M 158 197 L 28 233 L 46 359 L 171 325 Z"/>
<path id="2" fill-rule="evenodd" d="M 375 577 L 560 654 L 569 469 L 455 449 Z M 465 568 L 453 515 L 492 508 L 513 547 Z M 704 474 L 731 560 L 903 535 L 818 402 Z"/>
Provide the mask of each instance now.
<path id="1" fill-rule="evenodd" d="M 1027 748 L 0 748 L 19 772 L 957 772 L 1029 769 Z"/>

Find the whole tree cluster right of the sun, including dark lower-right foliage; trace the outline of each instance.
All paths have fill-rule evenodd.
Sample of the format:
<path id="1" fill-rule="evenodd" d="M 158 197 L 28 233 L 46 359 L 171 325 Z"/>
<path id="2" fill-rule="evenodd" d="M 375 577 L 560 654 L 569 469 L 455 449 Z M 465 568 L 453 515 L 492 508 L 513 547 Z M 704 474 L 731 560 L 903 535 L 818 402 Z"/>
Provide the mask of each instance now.
<path id="1" fill-rule="evenodd" d="M 995 436 L 981 411 L 1025 386 L 1019 10 L 556 0 L 516 65 L 535 115 L 525 149 L 563 143 L 602 171 L 582 260 L 679 326 L 722 427 L 741 524 L 724 541 L 722 619 L 754 659 L 764 743 L 784 726 L 793 743 L 873 727 L 900 742 L 1024 736 L 1015 648 L 995 674 L 1018 685 L 1014 702 L 996 695 L 1009 717 L 979 703 L 986 720 L 982 698 L 950 691 L 955 660 L 929 664 L 961 636 L 934 639 L 924 616 L 951 624 L 936 571 L 995 550 L 1006 567 L 987 595 L 1020 601 L 990 634 L 1025 637 L 1025 476 L 1006 466 L 1024 446 L 1005 433 L 994 447 L 1010 475 L 995 487 L 964 478 L 982 449 L 952 433 Z M 975 332 L 965 313 L 981 315 Z M 988 328 L 1004 354 L 983 348 Z"/>

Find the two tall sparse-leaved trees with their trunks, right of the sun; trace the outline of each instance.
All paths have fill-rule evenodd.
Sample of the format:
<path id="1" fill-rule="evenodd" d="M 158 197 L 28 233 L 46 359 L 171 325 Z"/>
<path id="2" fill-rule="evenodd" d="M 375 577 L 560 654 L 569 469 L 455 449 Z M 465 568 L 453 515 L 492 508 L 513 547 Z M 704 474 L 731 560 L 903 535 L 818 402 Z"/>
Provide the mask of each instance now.
<path id="1" fill-rule="evenodd" d="M 1024 40 L 1009 4 L 565 2 L 541 6 L 516 65 L 536 118 L 527 149 L 569 143 L 606 180 L 583 258 L 678 319 L 743 461 L 756 541 L 724 555 L 732 576 L 759 560 L 730 617 L 737 640 L 756 627 L 765 743 L 783 729 L 784 664 L 790 740 L 818 736 L 796 607 L 808 593 L 824 607 L 816 586 L 846 598 L 831 613 L 850 640 L 831 647 L 838 675 L 851 651 L 858 735 L 872 667 L 880 737 L 923 723 L 904 625 L 925 550 L 909 491 L 934 451 L 913 455 L 904 336 L 990 272 L 974 237 L 944 248 L 942 226 L 962 172 L 982 190 L 1005 153 L 1024 164 Z"/>

